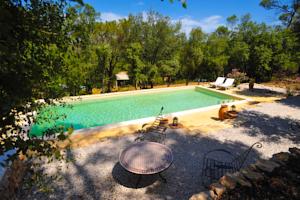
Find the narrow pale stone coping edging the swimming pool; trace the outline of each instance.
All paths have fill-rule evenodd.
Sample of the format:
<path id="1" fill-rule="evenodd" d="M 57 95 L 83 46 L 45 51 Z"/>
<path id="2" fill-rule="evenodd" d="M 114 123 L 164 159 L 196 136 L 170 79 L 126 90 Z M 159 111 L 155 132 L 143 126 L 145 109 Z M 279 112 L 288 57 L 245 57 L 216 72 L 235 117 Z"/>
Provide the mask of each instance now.
<path id="1" fill-rule="evenodd" d="M 170 88 L 157 88 L 157 89 L 145 89 L 145 90 L 136 90 L 136 91 L 126 91 L 126 92 L 115 92 L 115 93 L 107 93 L 107 94 L 96 94 L 96 95 L 83 95 L 83 96 L 76 96 L 76 97 L 67 97 L 64 98 L 63 101 L 66 103 L 74 102 L 74 100 L 81 99 L 81 100 L 92 100 L 92 99 L 105 99 L 109 97 L 115 97 L 115 96 L 123 96 L 123 95 L 132 95 L 132 94 L 146 94 L 146 93 L 155 93 L 155 92 L 163 92 L 163 91 L 170 91 L 170 90 L 182 90 L 182 89 L 192 89 L 192 88 L 200 88 L 216 93 L 221 93 L 226 96 L 233 97 L 235 99 L 238 99 L 237 101 L 234 102 L 229 102 L 226 103 L 227 105 L 240 105 L 240 104 L 245 104 L 249 101 L 251 101 L 251 98 L 245 98 L 240 95 L 236 94 L 229 94 L 226 91 L 220 91 L 217 89 L 213 88 L 207 88 L 203 86 L 180 86 L 180 87 L 170 87 Z M 193 113 L 199 113 L 199 112 L 205 112 L 213 109 L 217 109 L 220 107 L 221 104 L 217 105 L 212 105 L 212 106 L 207 106 L 203 108 L 196 108 L 196 109 L 190 109 L 190 110 L 185 110 L 185 111 L 179 111 L 179 112 L 174 112 L 174 113 L 169 113 L 165 114 L 164 117 L 172 119 L 173 117 L 178 117 L 178 116 L 184 116 L 184 115 L 189 115 Z M 100 132 L 108 129 L 113 129 L 113 128 L 121 128 L 129 125 L 142 125 L 148 122 L 151 122 L 155 119 L 156 116 L 151 116 L 151 117 L 146 117 L 146 118 L 140 118 L 140 119 L 135 119 L 135 120 L 129 120 L 129 121 L 123 121 L 123 122 L 118 122 L 118 123 L 113 123 L 113 124 L 107 124 L 103 126 L 95 126 L 91 128 L 83 128 L 83 129 L 77 129 L 74 130 L 72 135 L 78 135 L 78 134 L 85 134 L 86 136 L 89 134 L 94 134 L 95 132 Z"/>

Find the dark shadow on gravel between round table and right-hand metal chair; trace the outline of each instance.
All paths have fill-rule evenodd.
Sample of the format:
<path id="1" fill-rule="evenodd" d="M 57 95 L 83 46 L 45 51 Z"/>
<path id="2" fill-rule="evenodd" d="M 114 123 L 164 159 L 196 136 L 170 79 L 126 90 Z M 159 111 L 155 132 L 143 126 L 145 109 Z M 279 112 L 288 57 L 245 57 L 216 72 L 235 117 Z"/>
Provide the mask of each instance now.
<path id="1" fill-rule="evenodd" d="M 189 199 L 193 194 L 206 190 L 202 186 L 201 168 L 203 155 L 213 149 L 226 149 L 234 155 L 239 155 L 249 147 L 239 142 L 220 142 L 201 135 L 191 136 L 176 131 L 169 132 L 167 145 L 174 154 L 173 165 L 163 175 L 167 183 L 159 181 L 146 188 L 146 194 L 154 195 L 157 199 Z M 254 149 L 244 166 L 253 163 L 259 153 Z M 216 156 L 216 159 L 226 160 Z"/>

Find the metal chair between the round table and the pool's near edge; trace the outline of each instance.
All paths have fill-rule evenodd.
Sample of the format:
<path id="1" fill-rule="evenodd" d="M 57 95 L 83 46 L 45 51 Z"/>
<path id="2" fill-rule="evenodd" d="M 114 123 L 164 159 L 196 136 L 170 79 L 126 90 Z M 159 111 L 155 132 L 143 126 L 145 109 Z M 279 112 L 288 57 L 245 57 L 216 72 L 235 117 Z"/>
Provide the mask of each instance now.
<path id="1" fill-rule="evenodd" d="M 167 126 L 162 125 L 163 119 L 162 111 L 164 107 L 161 107 L 159 114 L 155 118 L 154 122 L 146 123 L 142 125 L 142 129 L 138 130 L 139 136 L 134 141 L 151 141 L 164 143 L 166 138 Z"/>

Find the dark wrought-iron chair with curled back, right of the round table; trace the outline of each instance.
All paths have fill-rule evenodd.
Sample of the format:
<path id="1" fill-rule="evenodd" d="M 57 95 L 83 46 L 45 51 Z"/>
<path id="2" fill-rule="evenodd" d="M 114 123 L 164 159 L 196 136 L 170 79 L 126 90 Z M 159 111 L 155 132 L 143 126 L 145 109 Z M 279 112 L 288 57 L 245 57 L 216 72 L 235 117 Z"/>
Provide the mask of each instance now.
<path id="1" fill-rule="evenodd" d="M 249 153 L 253 147 L 261 148 L 262 144 L 256 142 L 251 145 L 246 151 L 237 157 L 225 149 L 215 149 L 204 154 L 202 163 L 202 183 L 210 184 L 216 181 L 226 173 L 234 173 L 239 171 L 245 163 Z M 220 159 L 221 158 L 221 159 Z M 224 161 L 227 158 L 227 161 Z"/>

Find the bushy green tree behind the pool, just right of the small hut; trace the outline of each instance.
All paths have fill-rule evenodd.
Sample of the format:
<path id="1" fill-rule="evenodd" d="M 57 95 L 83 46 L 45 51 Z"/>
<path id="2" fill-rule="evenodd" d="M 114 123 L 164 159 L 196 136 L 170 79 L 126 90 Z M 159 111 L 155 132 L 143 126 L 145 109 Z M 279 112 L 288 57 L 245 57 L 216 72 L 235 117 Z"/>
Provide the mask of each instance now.
<path id="1" fill-rule="evenodd" d="M 179 59 L 182 38 L 180 24 L 174 25 L 170 18 L 153 11 L 147 14 L 146 19 L 142 15 L 130 16 L 126 23 L 130 24 L 126 25 L 126 32 L 129 32 L 129 36 L 125 36 L 126 40 L 129 44 L 139 43 L 143 47 L 139 51 L 139 60 L 144 66 L 136 70 L 140 77 L 138 82 L 144 88 L 148 85 L 153 87 L 160 76 L 166 75 L 167 65 L 172 68 L 178 66 L 174 63 L 175 59 Z M 132 46 L 129 48 L 132 49 Z"/>

